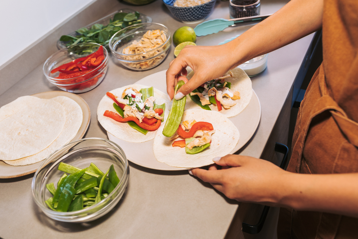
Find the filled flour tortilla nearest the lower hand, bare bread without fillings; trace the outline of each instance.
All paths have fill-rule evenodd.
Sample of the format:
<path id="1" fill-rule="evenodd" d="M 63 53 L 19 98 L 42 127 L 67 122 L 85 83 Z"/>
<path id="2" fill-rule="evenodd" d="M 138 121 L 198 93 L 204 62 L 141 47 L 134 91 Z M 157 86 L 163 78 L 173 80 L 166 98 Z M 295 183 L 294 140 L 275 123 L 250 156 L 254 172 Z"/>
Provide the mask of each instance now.
<path id="1" fill-rule="evenodd" d="M 192 109 L 184 111 L 182 122 L 195 119 L 205 121 L 213 125 L 215 133 L 212 134 L 210 147 L 197 154 L 185 153 L 185 148 L 172 147 L 171 144 L 181 137 L 169 140 L 162 132 L 164 125 L 155 134 L 153 152 L 157 161 L 173 167 L 198 168 L 213 164 L 213 158 L 225 156 L 235 148 L 239 141 L 240 133 L 236 126 L 226 116 L 218 111 Z"/>

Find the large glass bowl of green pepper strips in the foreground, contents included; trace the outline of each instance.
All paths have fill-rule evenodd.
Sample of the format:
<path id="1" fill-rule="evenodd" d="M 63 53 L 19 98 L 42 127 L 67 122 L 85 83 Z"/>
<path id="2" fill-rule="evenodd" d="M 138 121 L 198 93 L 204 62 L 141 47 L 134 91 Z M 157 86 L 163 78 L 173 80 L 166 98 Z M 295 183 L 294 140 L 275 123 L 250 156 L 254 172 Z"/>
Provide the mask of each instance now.
<path id="1" fill-rule="evenodd" d="M 32 180 L 32 194 L 45 215 L 83 223 L 100 218 L 121 199 L 129 180 L 127 158 L 116 143 L 80 139 L 44 160 Z"/>

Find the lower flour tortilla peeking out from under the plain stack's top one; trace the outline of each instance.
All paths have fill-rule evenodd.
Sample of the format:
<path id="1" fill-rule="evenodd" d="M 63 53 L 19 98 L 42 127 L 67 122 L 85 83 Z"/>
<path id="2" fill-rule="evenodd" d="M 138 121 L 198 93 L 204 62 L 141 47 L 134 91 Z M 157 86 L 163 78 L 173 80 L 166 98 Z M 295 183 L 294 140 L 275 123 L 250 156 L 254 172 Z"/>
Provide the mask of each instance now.
<path id="1" fill-rule="evenodd" d="M 37 154 L 13 161 L 4 161 L 5 163 L 13 166 L 22 166 L 40 162 L 47 158 L 55 150 L 71 142 L 71 140 L 76 136 L 83 120 L 81 107 L 76 103 L 76 101 L 66 96 L 57 96 L 50 100 L 61 104 L 66 112 L 66 121 L 60 135 L 58 135 L 57 139 L 55 139 L 49 147 L 38 152 Z"/>

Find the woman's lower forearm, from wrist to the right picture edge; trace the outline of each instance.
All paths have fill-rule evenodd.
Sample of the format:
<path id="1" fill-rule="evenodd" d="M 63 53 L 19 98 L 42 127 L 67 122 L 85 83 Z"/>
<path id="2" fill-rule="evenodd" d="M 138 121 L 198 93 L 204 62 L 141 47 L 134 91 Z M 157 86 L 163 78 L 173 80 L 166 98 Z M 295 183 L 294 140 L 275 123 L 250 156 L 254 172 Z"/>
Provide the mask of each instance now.
<path id="1" fill-rule="evenodd" d="M 358 217 L 358 173 L 287 173 L 279 185 L 274 196 L 278 205 Z"/>

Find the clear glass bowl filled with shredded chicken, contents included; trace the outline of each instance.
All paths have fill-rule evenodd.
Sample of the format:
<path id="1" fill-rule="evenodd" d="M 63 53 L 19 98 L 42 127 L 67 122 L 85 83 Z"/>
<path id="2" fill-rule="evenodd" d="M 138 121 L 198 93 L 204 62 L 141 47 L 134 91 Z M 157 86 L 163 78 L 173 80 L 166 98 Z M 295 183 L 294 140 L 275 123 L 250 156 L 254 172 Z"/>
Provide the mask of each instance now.
<path id="1" fill-rule="evenodd" d="M 167 27 L 159 23 L 140 23 L 115 33 L 108 46 L 121 64 L 136 71 L 158 66 L 168 54 L 171 43 Z"/>

